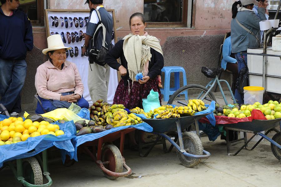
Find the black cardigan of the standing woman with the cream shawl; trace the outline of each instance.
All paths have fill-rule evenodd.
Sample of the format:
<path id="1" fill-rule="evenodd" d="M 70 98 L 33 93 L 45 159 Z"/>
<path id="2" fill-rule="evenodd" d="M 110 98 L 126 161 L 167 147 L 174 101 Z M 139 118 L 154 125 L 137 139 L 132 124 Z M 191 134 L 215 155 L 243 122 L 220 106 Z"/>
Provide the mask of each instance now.
<path id="1" fill-rule="evenodd" d="M 126 84 L 128 82 L 127 80 L 129 80 L 130 78 L 127 65 L 128 63 L 124 56 L 123 43 L 124 40 L 120 40 L 119 42 L 117 42 L 115 46 L 107 53 L 105 61 L 113 69 L 118 70 L 121 65 L 127 69 L 127 74 L 125 76 L 121 76 Z M 157 75 L 161 74 L 161 69 L 164 67 L 164 58 L 161 53 L 155 51 L 153 48 L 150 48 L 150 53 L 152 57 L 149 61 L 147 75 L 150 78 L 155 78 Z M 116 59 L 118 58 L 121 59 L 121 64 L 117 62 Z"/>

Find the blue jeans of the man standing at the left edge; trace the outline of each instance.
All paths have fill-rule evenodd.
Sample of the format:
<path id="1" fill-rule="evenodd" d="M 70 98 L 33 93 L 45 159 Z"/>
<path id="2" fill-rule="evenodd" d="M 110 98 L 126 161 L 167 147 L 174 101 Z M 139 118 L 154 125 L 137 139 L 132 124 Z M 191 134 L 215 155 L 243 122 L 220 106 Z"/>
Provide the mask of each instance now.
<path id="1" fill-rule="evenodd" d="M 9 113 L 22 111 L 21 91 L 26 77 L 25 60 L 3 60 L 0 58 L 0 103 Z"/>

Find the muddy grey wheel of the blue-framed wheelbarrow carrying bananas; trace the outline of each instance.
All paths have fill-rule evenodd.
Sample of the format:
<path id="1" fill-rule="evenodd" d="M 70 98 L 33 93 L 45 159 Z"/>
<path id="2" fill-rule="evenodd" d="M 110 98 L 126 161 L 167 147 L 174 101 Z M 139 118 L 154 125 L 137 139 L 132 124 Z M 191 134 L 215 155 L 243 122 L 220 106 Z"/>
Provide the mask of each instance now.
<path id="1" fill-rule="evenodd" d="M 203 155 L 203 146 L 200 138 L 192 132 L 184 132 L 182 134 L 183 144 L 185 151 L 190 154 Z M 177 144 L 180 145 L 179 139 Z M 195 159 L 192 157 L 186 157 L 180 151 L 177 150 L 177 155 L 180 159 L 181 164 L 185 167 L 192 168 L 200 163 L 201 159 Z"/>

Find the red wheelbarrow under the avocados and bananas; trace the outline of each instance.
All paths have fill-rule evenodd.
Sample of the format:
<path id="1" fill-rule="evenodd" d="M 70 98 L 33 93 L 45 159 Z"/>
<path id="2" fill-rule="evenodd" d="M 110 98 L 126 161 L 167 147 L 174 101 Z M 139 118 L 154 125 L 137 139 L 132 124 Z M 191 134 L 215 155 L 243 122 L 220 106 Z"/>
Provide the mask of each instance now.
<path id="1" fill-rule="evenodd" d="M 113 180 L 118 177 L 128 176 L 131 174 L 132 170 L 126 165 L 125 158 L 123 157 L 124 138 L 125 134 L 134 130 L 135 128 L 127 128 L 111 134 L 106 134 L 93 141 L 85 142 L 78 146 L 77 154 L 85 153 L 89 155 L 108 179 Z M 118 149 L 115 145 L 110 143 L 119 138 L 120 148 Z M 91 148 L 91 150 L 89 148 Z M 64 165 L 71 166 L 75 162 L 74 159 L 70 159 L 70 157 L 67 156 Z M 123 172 L 123 167 L 127 170 L 126 172 Z"/>

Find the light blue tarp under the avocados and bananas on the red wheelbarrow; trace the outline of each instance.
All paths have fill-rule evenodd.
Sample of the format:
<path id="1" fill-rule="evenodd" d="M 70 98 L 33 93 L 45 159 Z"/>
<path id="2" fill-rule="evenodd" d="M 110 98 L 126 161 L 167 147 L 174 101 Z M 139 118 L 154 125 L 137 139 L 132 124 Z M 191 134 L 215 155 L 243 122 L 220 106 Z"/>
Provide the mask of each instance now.
<path id="1" fill-rule="evenodd" d="M 62 150 L 62 161 L 65 161 L 65 156 L 69 155 L 70 159 L 75 159 L 76 161 L 78 161 L 77 159 L 77 147 L 81 144 L 84 144 L 85 142 L 89 142 L 89 141 L 93 141 L 95 139 L 99 139 L 103 136 L 106 136 L 107 134 L 111 134 L 123 129 L 127 129 L 127 128 L 136 128 L 139 130 L 143 130 L 145 132 L 152 132 L 153 128 L 150 127 L 149 124 L 147 123 L 141 123 L 141 124 L 137 124 L 137 125 L 129 125 L 129 126 L 121 126 L 121 127 L 116 127 L 116 128 L 112 128 L 110 130 L 106 130 L 100 133 L 92 133 L 92 134 L 85 134 L 85 135 L 81 135 L 81 136 L 76 136 L 75 138 L 73 138 L 71 140 L 73 146 L 74 146 L 74 151 L 66 151 L 66 150 Z"/>

